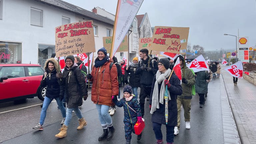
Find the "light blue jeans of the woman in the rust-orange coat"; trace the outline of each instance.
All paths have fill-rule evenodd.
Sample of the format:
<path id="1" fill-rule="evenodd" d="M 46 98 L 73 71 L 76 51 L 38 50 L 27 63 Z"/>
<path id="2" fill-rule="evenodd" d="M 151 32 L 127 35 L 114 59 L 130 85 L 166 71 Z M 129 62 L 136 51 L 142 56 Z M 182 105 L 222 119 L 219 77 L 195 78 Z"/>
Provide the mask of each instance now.
<path id="1" fill-rule="evenodd" d="M 99 120 L 100 120 L 101 126 L 112 125 L 112 119 L 108 113 L 110 106 L 96 104 L 96 108 L 99 113 Z"/>

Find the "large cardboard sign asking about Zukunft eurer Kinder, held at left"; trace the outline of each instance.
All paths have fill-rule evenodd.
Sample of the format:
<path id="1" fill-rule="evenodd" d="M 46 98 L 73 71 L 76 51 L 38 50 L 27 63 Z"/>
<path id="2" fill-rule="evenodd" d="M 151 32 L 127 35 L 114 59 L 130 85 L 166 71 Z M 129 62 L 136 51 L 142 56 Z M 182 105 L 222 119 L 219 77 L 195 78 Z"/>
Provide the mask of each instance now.
<path id="1" fill-rule="evenodd" d="M 92 21 L 61 25 L 55 28 L 56 57 L 95 52 Z"/>

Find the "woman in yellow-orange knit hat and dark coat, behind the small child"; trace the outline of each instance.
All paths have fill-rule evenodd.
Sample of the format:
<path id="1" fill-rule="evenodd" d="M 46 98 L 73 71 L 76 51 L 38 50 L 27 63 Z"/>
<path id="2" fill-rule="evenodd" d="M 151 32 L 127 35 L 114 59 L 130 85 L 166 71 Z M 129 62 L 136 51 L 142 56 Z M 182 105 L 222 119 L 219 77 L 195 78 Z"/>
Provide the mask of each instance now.
<path id="1" fill-rule="evenodd" d="M 136 68 L 138 67 L 138 58 L 134 57 L 132 63 L 126 68 L 127 73 L 130 73 L 129 86 L 132 87 L 132 93 L 138 99 L 138 87 L 140 87 L 140 75 L 135 75 Z"/>

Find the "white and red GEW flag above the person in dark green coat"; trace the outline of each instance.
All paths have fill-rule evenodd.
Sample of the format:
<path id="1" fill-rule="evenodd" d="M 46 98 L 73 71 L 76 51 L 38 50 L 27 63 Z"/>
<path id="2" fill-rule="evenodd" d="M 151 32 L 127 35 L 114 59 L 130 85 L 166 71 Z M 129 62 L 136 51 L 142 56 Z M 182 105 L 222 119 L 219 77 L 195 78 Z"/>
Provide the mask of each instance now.
<path id="1" fill-rule="evenodd" d="M 195 58 L 191 63 L 187 65 L 187 67 L 191 68 L 194 72 L 199 71 L 209 71 L 209 68 L 206 66 L 206 61 L 202 55 Z"/>

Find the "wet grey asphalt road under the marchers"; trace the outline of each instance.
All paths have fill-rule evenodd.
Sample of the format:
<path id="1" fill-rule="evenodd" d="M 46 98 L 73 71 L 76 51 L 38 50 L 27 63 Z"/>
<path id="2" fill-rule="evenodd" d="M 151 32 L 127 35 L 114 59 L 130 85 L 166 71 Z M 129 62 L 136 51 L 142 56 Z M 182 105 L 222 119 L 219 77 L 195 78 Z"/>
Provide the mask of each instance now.
<path id="1" fill-rule="evenodd" d="M 88 89 L 89 91 L 91 89 Z M 139 91 L 140 89 L 138 89 Z M 185 129 L 183 112 L 181 112 L 180 133 L 174 138 L 175 144 L 216 144 L 224 143 L 222 111 L 220 100 L 220 80 L 213 79 L 209 83 L 208 97 L 203 108 L 199 108 L 199 96 L 193 96 L 191 107 L 191 129 Z M 40 118 L 41 104 L 38 98 L 27 99 L 26 103 L 13 104 L 13 102 L 0 104 L 0 143 L 3 144 L 124 144 L 124 123 L 123 108 L 117 108 L 112 116 L 113 125 L 116 129 L 114 137 L 110 141 L 98 141 L 102 134 L 102 128 L 98 120 L 98 113 L 95 104 L 90 99 L 84 102 L 81 107 L 87 126 L 82 130 L 76 130 L 78 120 L 73 113 L 73 118 L 68 128 L 67 137 L 57 139 L 54 137 L 61 127 L 61 113 L 57 109 L 56 102 L 52 102 L 47 110 L 47 116 L 43 131 L 33 130 Z M 35 106 L 33 106 L 35 105 Z M 31 107 L 28 107 L 31 106 Z M 132 144 L 153 144 L 156 143 L 155 135 L 152 129 L 151 114 L 148 109 L 148 101 L 145 104 L 145 129 L 142 139 L 136 140 L 136 135 L 132 134 Z M 24 108 L 28 107 L 28 108 Z M 5 112 L 17 108 L 24 108 Z M 163 140 L 166 140 L 165 126 L 162 126 Z M 166 142 L 165 142 L 166 143 Z"/>

